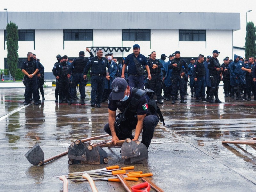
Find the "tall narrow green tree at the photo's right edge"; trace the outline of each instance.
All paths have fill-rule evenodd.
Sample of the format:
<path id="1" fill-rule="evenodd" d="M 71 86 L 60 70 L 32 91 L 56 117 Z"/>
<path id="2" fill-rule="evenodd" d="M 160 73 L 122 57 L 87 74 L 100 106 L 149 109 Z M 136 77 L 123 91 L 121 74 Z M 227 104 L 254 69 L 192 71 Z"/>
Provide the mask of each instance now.
<path id="1" fill-rule="evenodd" d="M 256 56 L 256 28 L 253 22 L 248 22 L 246 25 L 245 37 L 245 58 Z"/>

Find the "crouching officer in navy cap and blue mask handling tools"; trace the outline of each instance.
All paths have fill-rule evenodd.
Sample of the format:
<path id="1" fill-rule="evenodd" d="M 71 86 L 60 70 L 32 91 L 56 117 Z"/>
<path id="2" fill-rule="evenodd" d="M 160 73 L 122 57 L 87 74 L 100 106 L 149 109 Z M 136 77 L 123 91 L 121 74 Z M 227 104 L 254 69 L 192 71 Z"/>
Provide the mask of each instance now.
<path id="1" fill-rule="evenodd" d="M 123 78 L 116 78 L 113 81 L 112 93 L 108 101 L 108 124 L 104 126 L 104 130 L 112 135 L 113 144 L 126 138 L 138 140 L 142 132 L 141 143 L 148 148 L 159 117 L 148 110 L 148 100 L 145 95 L 141 96 L 136 103 L 132 100 L 134 95 L 135 89 L 128 86 Z M 115 125 L 117 108 L 124 113 L 127 106 L 127 111 L 124 114 L 126 120 L 120 122 L 119 126 Z M 134 136 L 132 135 L 132 129 L 135 129 Z"/>

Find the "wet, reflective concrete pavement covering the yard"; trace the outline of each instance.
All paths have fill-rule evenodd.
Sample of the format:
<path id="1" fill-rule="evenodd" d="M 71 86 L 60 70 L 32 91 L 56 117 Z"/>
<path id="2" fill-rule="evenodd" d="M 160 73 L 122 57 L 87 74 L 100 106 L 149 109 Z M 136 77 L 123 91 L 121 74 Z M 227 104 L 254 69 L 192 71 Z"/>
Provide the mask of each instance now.
<path id="1" fill-rule="evenodd" d="M 69 165 L 67 156 L 43 166 L 28 162 L 24 154 L 36 143 L 46 159 L 66 151 L 76 139 L 105 134 L 107 102 L 101 108 L 91 108 L 91 88 L 86 87 L 86 105 L 56 104 L 54 89 L 44 89 L 46 100 L 39 106 L 23 105 L 24 88 L 0 89 L 0 191 L 62 191 L 62 181 L 53 176 L 110 165 L 127 166 L 120 148 L 104 148 L 109 164 Z M 221 141 L 246 140 L 256 135 L 256 101 L 224 99 L 222 86 L 219 98 L 225 103 L 196 103 L 190 95 L 187 104 L 172 105 L 164 100 L 160 108 L 166 126 L 158 124 L 149 159 L 136 164 L 135 171 L 152 172 L 150 179 L 164 191 L 254 191 L 256 148 L 223 145 Z M 102 140 L 105 138 L 95 143 Z M 120 183 L 95 184 L 98 191 L 125 191 Z M 68 189 L 92 191 L 87 182 L 69 181 Z"/>

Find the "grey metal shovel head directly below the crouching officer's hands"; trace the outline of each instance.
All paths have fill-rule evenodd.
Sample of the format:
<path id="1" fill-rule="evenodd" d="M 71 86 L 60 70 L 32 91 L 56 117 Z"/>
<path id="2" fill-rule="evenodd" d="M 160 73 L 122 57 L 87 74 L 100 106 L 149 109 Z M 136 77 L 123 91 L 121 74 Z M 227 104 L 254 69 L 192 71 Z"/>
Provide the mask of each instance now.
<path id="1" fill-rule="evenodd" d="M 125 140 L 121 147 L 122 159 L 130 159 L 132 157 L 140 156 L 138 145 L 133 140 L 128 139 Z"/>

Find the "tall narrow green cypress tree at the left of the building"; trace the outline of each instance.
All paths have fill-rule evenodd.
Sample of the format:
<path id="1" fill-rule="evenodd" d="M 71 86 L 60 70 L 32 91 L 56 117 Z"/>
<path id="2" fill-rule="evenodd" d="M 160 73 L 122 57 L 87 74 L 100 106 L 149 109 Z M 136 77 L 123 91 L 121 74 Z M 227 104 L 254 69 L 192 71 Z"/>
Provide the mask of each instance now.
<path id="1" fill-rule="evenodd" d="M 6 26 L 6 40 L 7 40 L 7 64 L 9 71 L 15 81 L 18 64 L 18 26 L 15 23 L 8 23 Z"/>

